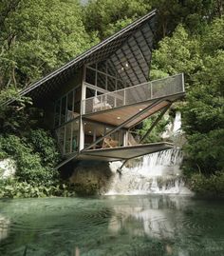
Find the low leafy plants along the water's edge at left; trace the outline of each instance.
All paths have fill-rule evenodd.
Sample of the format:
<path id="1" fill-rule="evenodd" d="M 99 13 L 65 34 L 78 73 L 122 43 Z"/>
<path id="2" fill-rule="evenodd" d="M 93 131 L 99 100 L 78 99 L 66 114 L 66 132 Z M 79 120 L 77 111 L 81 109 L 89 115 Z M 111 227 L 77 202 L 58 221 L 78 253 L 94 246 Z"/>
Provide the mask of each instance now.
<path id="1" fill-rule="evenodd" d="M 30 198 L 48 196 L 74 196 L 73 187 L 61 183 L 54 186 L 43 186 L 21 182 L 17 179 L 0 181 L 0 198 Z"/>

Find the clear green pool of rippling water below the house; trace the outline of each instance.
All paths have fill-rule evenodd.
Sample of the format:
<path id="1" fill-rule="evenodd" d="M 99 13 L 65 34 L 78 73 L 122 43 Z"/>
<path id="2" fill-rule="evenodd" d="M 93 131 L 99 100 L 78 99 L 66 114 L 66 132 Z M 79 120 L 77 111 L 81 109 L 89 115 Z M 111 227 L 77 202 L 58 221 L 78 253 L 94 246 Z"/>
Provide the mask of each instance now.
<path id="1" fill-rule="evenodd" d="M 224 204 L 156 195 L 1 200 L 0 255 L 222 256 Z"/>

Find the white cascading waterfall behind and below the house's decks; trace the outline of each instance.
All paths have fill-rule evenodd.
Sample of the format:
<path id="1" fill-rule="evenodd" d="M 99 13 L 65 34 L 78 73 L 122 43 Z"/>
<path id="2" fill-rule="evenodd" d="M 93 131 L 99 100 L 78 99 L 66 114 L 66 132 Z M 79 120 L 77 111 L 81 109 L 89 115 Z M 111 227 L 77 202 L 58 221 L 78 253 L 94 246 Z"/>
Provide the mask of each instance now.
<path id="1" fill-rule="evenodd" d="M 180 128 L 181 115 L 177 112 L 169 137 L 181 136 Z M 106 194 L 192 194 L 181 176 L 182 158 L 180 148 L 163 150 L 129 161 L 128 167 L 122 168 L 122 174 L 117 172 L 121 162 L 111 163 L 113 178 Z"/>

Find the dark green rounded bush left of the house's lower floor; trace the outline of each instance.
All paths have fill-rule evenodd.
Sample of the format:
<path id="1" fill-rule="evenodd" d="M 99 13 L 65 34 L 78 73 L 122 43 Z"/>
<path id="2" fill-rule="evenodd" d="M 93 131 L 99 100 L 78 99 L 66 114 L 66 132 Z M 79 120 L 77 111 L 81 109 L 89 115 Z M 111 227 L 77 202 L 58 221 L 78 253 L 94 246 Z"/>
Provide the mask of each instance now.
<path id="1" fill-rule="evenodd" d="M 16 161 L 19 181 L 43 186 L 58 181 L 59 173 L 53 165 L 59 160 L 59 154 L 46 131 L 31 131 L 30 137 L 23 139 L 16 135 L 0 136 L 0 151 Z"/>

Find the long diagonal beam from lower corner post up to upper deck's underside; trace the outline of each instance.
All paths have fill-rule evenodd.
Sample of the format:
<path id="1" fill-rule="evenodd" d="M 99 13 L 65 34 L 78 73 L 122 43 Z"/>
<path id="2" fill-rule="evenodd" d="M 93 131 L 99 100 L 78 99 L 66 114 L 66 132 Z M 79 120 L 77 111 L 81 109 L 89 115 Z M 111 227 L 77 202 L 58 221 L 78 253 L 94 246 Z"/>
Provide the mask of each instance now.
<path id="1" fill-rule="evenodd" d="M 92 148 L 93 146 L 95 146 L 96 144 L 98 144 L 99 142 L 102 142 L 103 139 L 109 135 L 111 135 L 112 133 L 116 132 L 117 130 L 123 128 L 124 126 L 126 126 L 127 124 L 129 124 L 130 122 L 132 122 L 135 118 L 138 118 L 140 115 L 142 115 L 143 113 L 145 113 L 146 111 L 148 111 L 151 108 L 154 108 L 155 106 L 157 106 L 160 102 L 162 102 L 163 99 L 159 99 L 156 102 L 154 102 L 152 105 L 142 109 L 139 113 L 133 115 L 132 117 L 130 117 L 129 119 L 127 119 L 126 121 L 124 121 L 119 127 L 117 128 L 113 128 L 110 131 L 108 131 L 107 133 L 105 133 L 105 135 L 101 138 L 99 138 L 98 140 L 96 140 L 95 142 L 93 142 L 92 144 L 90 144 L 88 147 L 84 148 L 81 152 L 84 152 L 85 150 Z"/>

